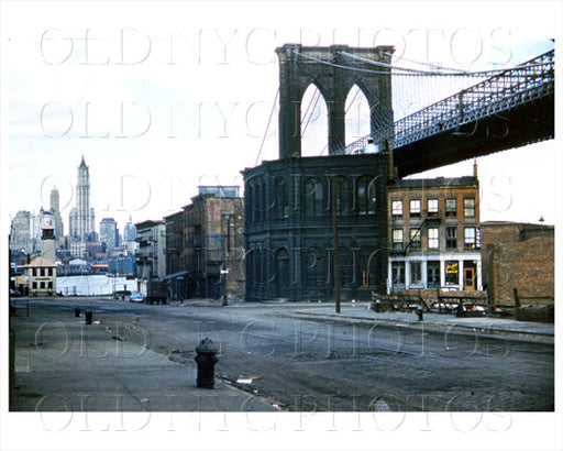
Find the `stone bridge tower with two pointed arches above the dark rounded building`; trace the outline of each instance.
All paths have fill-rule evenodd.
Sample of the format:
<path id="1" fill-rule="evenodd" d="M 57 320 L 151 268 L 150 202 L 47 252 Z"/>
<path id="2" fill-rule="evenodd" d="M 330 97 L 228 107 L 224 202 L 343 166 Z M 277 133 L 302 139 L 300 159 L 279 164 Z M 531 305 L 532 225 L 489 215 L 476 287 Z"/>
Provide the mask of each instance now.
<path id="1" fill-rule="evenodd" d="M 390 46 L 305 47 L 286 44 L 278 47 L 279 157 L 301 156 L 301 100 L 311 84 L 319 89 L 327 103 L 329 155 L 342 153 L 345 147 L 345 102 L 354 85 L 361 88 L 367 99 L 371 133 L 383 127 L 393 128 L 393 51 Z M 369 63 L 374 61 L 389 67 L 374 66 Z"/>

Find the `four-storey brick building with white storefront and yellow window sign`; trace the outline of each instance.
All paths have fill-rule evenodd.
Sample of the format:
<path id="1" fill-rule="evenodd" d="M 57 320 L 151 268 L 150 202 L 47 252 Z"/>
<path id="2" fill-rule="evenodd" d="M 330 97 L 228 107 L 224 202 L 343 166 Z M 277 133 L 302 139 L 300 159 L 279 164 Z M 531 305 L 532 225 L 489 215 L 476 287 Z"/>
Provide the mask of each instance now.
<path id="1" fill-rule="evenodd" d="M 395 179 L 387 187 L 388 290 L 479 290 L 478 179 Z"/>

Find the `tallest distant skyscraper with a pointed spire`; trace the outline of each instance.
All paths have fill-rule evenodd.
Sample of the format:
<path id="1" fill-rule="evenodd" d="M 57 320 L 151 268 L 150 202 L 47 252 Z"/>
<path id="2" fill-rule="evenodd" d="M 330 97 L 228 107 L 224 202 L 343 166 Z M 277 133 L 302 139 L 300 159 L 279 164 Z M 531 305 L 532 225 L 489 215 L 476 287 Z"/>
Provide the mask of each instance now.
<path id="1" fill-rule="evenodd" d="M 78 166 L 76 182 L 76 207 L 70 211 L 70 235 L 89 241 L 96 235 L 96 213 L 90 207 L 90 174 L 84 161 Z"/>

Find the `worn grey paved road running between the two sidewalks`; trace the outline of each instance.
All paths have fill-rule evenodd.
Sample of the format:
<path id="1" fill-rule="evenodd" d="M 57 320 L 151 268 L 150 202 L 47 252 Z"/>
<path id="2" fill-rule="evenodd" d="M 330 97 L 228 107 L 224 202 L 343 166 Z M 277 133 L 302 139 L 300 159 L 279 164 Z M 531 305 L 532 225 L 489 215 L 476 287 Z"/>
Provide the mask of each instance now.
<path id="1" fill-rule="evenodd" d="M 66 317 L 75 305 L 89 307 L 100 321 L 92 326 L 103 327 L 104 333 L 191 371 L 194 350 L 208 337 L 220 346 L 221 387 L 244 391 L 264 406 L 284 410 L 554 409 L 554 350 L 549 343 L 312 318 L 302 314 L 317 306 L 307 304 L 147 306 L 64 298 L 32 300 L 31 316 L 38 305 Z"/>

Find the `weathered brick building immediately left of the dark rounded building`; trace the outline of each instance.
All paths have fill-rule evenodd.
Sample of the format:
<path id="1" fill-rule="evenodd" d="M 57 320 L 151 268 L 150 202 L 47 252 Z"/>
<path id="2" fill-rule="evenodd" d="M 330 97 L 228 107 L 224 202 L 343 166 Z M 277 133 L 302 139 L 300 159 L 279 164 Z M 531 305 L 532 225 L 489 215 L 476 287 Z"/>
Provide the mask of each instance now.
<path id="1" fill-rule="evenodd" d="M 238 186 L 200 186 L 166 222 L 166 276 L 173 299 L 244 294 L 244 200 Z"/>

